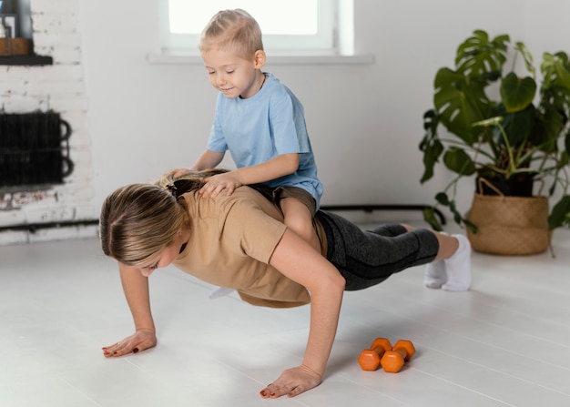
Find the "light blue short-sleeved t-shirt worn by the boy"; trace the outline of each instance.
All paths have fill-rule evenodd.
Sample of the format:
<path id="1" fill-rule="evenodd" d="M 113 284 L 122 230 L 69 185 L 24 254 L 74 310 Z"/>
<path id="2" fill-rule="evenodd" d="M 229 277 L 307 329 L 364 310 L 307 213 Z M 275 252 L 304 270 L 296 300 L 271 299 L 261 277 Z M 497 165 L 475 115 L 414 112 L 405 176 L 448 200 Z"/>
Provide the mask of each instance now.
<path id="1" fill-rule="evenodd" d="M 315 198 L 319 208 L 322 184 L 317 178 L 304 109 L 276 76 L 265 75 L 265 84 L 252 97 L 230 99 L 219 94 L 208 149 L 219 153 L 229 150 L 238 168 L 261 164 L 282 154 L 299 153 L 296 172 L 265 184 L 271 188 L 303 188 Z"/>

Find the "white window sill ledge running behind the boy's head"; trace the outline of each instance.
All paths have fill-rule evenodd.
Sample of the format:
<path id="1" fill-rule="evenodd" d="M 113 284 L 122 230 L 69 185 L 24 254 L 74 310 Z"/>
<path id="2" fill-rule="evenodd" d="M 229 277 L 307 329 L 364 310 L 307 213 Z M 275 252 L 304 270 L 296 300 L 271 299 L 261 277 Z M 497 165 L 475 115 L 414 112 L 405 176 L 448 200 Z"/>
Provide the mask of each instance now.
<path id="1" fill-rule="evenodd" d="M 268 56 L 268 65 L 372 65 L 376 58 L 372 54 L 358 56 Z M 148 54 L 151 65 L 203 65 L 197 55 Z"/>

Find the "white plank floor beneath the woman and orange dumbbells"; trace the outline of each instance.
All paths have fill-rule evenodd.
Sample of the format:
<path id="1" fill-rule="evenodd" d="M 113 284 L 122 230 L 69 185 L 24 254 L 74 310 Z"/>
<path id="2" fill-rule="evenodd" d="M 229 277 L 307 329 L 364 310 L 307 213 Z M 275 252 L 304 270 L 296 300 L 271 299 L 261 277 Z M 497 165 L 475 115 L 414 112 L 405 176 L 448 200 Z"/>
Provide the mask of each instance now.
<path id="1" fill-rule="evenodd" d="M 556 258 L 473 255 L 473 290 L 422 287 L 422 268 L 345 295 L 324 382 L 261 400 L 300 362 L 309 307 L 254 308 L 174 269 L 151 277 L 158 347 L 116 360 L 132 333 L 116 265 L 97 239 L 0 247 L 2 407 L 570 405 L 570 230 Z M 375 337 L 414 342 L 396 374 L 361 371 Z"/>

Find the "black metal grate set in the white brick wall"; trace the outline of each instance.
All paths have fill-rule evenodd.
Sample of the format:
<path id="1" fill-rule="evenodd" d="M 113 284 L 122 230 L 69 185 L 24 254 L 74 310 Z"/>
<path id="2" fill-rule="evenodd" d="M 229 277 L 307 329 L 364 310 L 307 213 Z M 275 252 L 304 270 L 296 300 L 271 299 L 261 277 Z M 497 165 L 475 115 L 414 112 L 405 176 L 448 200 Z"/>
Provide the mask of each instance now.
<path id="1" fill-rule="evenodd" d="M 73 171 L 58 113 L 0 114 L 0 187 L 61 184 Z"/>

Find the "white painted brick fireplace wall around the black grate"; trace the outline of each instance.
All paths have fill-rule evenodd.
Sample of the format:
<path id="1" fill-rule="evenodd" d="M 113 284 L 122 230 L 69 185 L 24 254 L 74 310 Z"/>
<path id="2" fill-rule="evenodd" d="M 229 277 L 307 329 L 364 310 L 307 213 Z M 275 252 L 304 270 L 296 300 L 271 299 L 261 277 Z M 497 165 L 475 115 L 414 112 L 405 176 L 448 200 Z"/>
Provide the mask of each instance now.
<path id="1" fill-rule="evenodd" d="M 87 96 L 76 0 L 31 0 L 34 53 L 52 56 L 53 65 L 0 66 L 3 113 L 53 110 L 69 123 L 72 173 L 63 184 L 0 187 L 0 244 L 95 236 L 92 165 L 87 131 Z M 7 227 L 77 223 L 30 231 Z"/>

